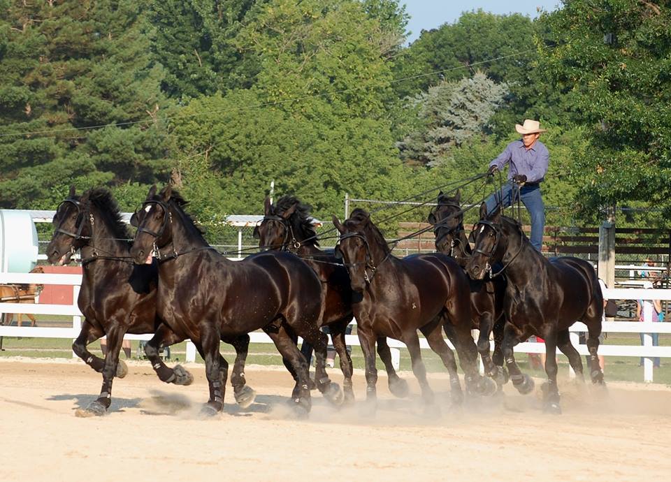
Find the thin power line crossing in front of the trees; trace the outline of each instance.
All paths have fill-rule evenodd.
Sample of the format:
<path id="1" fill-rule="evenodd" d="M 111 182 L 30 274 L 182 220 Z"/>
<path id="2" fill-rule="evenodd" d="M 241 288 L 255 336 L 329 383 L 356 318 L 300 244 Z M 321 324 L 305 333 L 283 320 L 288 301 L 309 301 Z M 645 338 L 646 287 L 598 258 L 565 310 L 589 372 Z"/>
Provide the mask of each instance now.
<path id="1" fill-rule="evenodd" d="M 450 67 L 450 68 L 444 68 L 440 71 L 433 71 L 433 72 L 428 72 L 428 73 L 420 73 L 417 75 L 410 75 L 408 77 L 400 78 L 400 79 L 395 79 L 391 80 L 389 84 L 398 84 L 400 82 L 405 82 L 406 80 L 414 80 L 418 78 L 423 78 L 423 77 L 429 77 L 431 75 L 436 75 L 439 73 L 445 73 L 449 71 L 456 71 L 461 68 L 471 68 L 472 66 L 477 66 L 477 65 L 482 65 L 482 64 L 487 64 L 489 62 L 494 62 L 498 60 L 503 60 L 503 59 L 508 59 L 510 57 L 517 57 L 518 55 L 522 54 L 527 54 L 529 52 L 534 52 L 535 49 L 527 49 L 527 50 L 520 50 L 519 52 L 514 52 L 512 54 L 507 54 L 507 55 L 502 55 L 500 57 L 495 57 L 493 59 L 487 59 L 487 60 L 482 60 L 478 62 L 473 62 L 472 64 L 468 65 L 461 65 L 461 66 L 456 66 L 456 67 Z M 332 95 L 338 95 L 338 94 L 346 94 L 347 92 L 355 92 L 358 90 L 363 90 L 363 89 L 368 89 L 369 87 L 366 85 L 363 85 L 361 87 L 350 87 L 348 89 L 342 89 L 338 90 L 335 92 L 324 92 L 322 94 L 309 94 L 305 96 L 300 96 L 300 97 L 293 97 L 293 98 L 288 98 L 284 99 L 283 101 L 274 101 L 274 102 L 266 102 L 266 103 L 260 103 L 257 105 L 249 105 L 247 107 L 236 107 L 232 109 L 215 109 L 215 110 L 207 110 L 203 112 L 194 112 L 193 114 L 184 114 L 184 115 L 175 115 L 173 117 L 157 117 L 157 118 L 152 118 L 152 119 L 145 119 L 145 120 L 138 120 L 138 121 L 127 121 L 127 122 L 114 122 L 111 124 L 99 124 L 96 126 L 85 126 L 85 127 L 68 127 L 66 129 L 51 129 L 51 130 L 43 130 L 43 131 L 27 131 L 27 132 L 15 132 L 15 133 L 0 133 L 0 138 L 3 137 L 13 137 L 13 136 L 37 136 L 40 134 L 51 134 L 51 133 L 61 133 L 61 132 L 73 132 L 73 131 L 90 131 L 92 129 L 104 129 L 106 127 L 122 127 L 122 126 L 132 126 L 136 124 L 152 124 L 152 123 L 157 123 L 159 121 L 161 122 L 167 122 L 175 119 L 188 119 L 189 117 L 200 117 L 201 115 L 210 115 L 210 114 L 217 114 L 217 113 L 223 113 L 223 112 L 244 112 L 246 110 L 254 110 L 254 109 L 260 109 L 264 107 L 273 107 L 274 105 L 282 105 L 285 103 L 291 103 L 291 102 L 300 102 L 307 100 L 308 98 L 319 98 L 319 97 L 325 97 L 325 96 L 332 96 Z"/>

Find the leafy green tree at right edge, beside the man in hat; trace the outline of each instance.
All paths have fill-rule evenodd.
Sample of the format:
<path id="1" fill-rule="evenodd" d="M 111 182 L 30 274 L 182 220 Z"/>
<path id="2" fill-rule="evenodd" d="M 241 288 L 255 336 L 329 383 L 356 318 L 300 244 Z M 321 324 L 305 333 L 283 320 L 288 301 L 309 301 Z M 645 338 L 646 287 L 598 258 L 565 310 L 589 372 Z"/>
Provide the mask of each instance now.
<path id="1" fill-rule="evenodd" d="M 671 2 L 573 0 L 543 15 L 541 65 L 584 126 L 580 205 L 671 208 Z"/>

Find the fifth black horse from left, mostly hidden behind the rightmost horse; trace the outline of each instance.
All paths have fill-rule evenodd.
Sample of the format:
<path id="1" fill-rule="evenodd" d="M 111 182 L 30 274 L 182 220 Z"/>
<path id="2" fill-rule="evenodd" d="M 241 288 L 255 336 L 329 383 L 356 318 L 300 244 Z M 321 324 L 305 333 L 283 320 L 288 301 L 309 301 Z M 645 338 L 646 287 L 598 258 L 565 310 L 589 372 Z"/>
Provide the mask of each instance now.
<path id="1" fill-rule="evenodd" d="M 461 193 L 454 196 L 438 194 L 438 206 L 428 215 L 428 222 L 434 225 L 435 248 L 441 253 L 452 256 L 457 263 L 466 269 L 472 249 L 463 228 L 463 211 L 461 210 Z M 501 388 L 505 384 L 506 374 L 503 370 L 503 298 L 505 296 L 505 277 L 494 279 L 470 279 L 470 306 L 472 327 L 479 330 L 477 351 L 482 357 L 484 370 Z M 494 333 L 493 356 L 489 356 L 489 335 Z M 450 337 L 450 334 L 447 333 Z M 454 343 L 454 340 L 452 340 Z"/>

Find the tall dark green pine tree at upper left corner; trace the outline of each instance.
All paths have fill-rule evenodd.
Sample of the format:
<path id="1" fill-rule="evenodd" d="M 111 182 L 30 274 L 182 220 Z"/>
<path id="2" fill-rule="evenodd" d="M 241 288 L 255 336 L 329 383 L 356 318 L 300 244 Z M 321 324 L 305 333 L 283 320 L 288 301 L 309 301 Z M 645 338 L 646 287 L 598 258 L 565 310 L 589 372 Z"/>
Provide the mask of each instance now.
<path id="1" fill-rule="evenodd" d="M 169 105 L 143 6 L 2 0 L 0 205 L 53 207 L 69 184 L 168 174 Z"/>

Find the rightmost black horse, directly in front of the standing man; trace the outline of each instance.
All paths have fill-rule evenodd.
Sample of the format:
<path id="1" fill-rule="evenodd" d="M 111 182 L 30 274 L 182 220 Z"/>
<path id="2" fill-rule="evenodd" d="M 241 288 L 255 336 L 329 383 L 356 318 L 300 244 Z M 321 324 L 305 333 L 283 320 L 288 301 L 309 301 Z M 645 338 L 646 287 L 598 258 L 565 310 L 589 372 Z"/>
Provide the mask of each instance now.
<path id="1" fill-rule="evenodd" d="M 543 387 L 544 409 L 561 413 L 557 346 L 582 379 L 582 361 L 568 332 L 575 321 L 585 323 L 589 333 L 587 347 L 592 382 L 604 383 L 597 356 L 603 295 L 596 272 L 590 263 L 579 258 L 565 256 L 547 260 L 531 245 L 519 222 L 501 215 L 498 208 L 488 215 L 483 203 L 480 220 L 475 225 L 475 249 L 467 269 L 472 278 L 483 279 L 486 272 L 492 275 L 493 263 L 503 263 L 493 276 L 505 270 L 507 277 L 503 355 L 510 378 L 518 389 L 522 387 L 521 391 L 531 391 L 533 384 L 515 363 L 513 346 L 530 335 L 544 338 L 548 377 Z"/>

